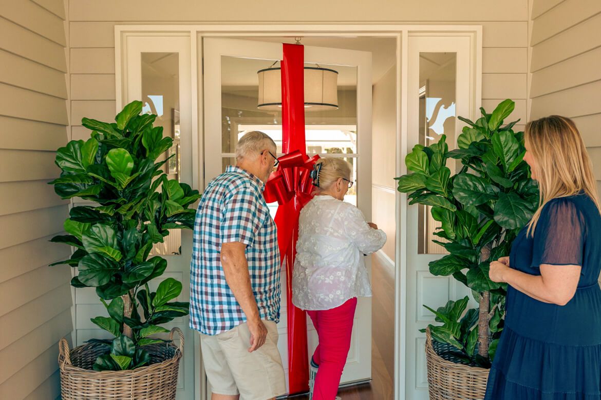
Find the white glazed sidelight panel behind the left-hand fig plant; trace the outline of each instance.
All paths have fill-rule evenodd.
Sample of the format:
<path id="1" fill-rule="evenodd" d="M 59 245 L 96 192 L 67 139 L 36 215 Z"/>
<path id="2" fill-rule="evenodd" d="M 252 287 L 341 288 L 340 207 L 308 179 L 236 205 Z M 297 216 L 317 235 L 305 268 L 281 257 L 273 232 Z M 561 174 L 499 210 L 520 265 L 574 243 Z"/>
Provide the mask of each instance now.
<path id="1" fill-rule="evenodd" d="M 171 158 L 165 164 L 169 179 L 178 179 L 195 188 L 192 182 L 192 85 L 191 44 L 189 32 L 167 35 L 123 35 L 121 68 L 121 97 L 117 97 L 117 110 L 133 100 L 142 100 L 142 113 L 157 115 L 154 126 L 163 127 L 163 135 L 171 136 L 174 146 Z M 164 158 L 163 158 L 164 159 Z M 150 281 L 156 290 L 160 281 L 175 278 L 182 282 L 182 294 L 177 301 L 189 301 L 190 259 L 192 232 L 172 230 L 165 243 L 157 243 L 151 254 L 167 260 L 166 272 Z M 179 327 L 185 336 L 185 351 L 178 374 L 177 399 L 194 398 L 194 334 L 188 327 L 188 317 L 176 318 L 165 327 Z"/>

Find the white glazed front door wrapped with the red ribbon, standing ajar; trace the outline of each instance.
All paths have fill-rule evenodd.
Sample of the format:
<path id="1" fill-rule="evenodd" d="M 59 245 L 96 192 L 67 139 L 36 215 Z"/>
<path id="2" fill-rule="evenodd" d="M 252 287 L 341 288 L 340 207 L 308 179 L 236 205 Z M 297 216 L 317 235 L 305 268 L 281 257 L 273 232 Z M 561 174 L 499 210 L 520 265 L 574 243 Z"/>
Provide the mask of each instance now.
<path id="1" fill-rule="evenodd" d="M 281 113 L 257 109 L 257 71 L 282 59 L 282 44 L 255 40 L 204 38 L 204 156 L 207 184 L 234 163 L 236 142 L 243 131 L 261 130 L 278 145 L 281 155 Z M 305 62 L 339 72 L 338 103 L 331 112 L 305 113 L 308 154 L 343 157 L 353 164 L 356 192 L 346 201 L 371 216 L 371 53 L 305 47 Z M 279 65 L 278 65 L 279 66 Z M 277 204 L 270 204 L 275 213 Z M 288 371 L 285 274 L 278 347 Z M 309 354 L 317 335 L 307 318 Z M 371 300 L 361 298 L 352 344 L 341 383 L 371 378 Z"/>

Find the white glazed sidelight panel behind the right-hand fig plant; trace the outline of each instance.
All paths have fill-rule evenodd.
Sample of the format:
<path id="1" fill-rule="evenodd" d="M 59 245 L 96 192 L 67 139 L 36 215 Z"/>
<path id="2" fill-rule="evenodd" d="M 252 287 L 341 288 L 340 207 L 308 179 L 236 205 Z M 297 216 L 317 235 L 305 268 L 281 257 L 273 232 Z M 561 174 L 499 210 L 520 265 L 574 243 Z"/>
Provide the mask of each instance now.
<path id="1" fill-rule="evenodd" d="M 409 34 L 407 49 L 407 153 L 415 145 L 431 145 L 441 134 L 447 135 L 449 149 L 456 148 L 462 123 L 456 116 L 474 118 L 480 106 L 477 96 L 475 38 L 471 34 Z M 455 173 L 453 160 L 447 166 Z M 404 162 L 404 160 L 403 160 Z M 402 220 L 402 218 L 401 218 Z M 419 329 L 434 323 L 434 309 L 448 300 L 469 294 L 452 277 L 433 276 L 428 263 L 444 254 L 444 248 L 432 243 L 439 223 L 430 209 L 414 204 L 407 207 L 406 218 L 406 370 L 404 398 L 426 400 L 425 333 Z M 397 258 L 398 259 L 398 258 Z M 472 305 L 474 306 L 474 305 Z M 402 329 L 403 327 L 401 327 Z M 402 373 L 402 372 L 401 372 Z"/>

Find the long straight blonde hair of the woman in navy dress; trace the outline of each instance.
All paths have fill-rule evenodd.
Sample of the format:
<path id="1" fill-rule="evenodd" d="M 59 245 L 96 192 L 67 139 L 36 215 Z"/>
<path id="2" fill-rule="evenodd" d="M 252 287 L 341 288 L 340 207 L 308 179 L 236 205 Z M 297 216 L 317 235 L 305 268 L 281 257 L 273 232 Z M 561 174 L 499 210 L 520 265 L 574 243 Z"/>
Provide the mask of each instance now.
<path id="1" fill-rule="evenodd" d="M 540 190 L 538 209 L 528 224 L 530 236 L 534 234 L 545 204 L 558 197 L 584 192 L 601 209 L 593 164 L 571 119 L 552 115 L 530 121 L 526 124 L 524 139 L 535 161 Z"/>

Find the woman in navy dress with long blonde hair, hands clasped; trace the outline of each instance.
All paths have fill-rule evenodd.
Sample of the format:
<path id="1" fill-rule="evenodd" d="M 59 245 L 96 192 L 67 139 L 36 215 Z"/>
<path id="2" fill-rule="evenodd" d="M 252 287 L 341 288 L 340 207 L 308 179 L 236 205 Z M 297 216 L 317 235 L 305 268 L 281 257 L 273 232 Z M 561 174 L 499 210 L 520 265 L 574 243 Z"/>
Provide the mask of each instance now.
<path id="1" fill-rule="evenodd" d="M 486 400 L 601 398 L 601 214 L 576 125 L 529 122 L 526 154 L 540 206 L 509 257 L 490 263 L 507 282 L 507 317 Z"/>

